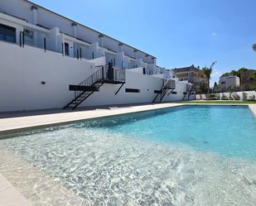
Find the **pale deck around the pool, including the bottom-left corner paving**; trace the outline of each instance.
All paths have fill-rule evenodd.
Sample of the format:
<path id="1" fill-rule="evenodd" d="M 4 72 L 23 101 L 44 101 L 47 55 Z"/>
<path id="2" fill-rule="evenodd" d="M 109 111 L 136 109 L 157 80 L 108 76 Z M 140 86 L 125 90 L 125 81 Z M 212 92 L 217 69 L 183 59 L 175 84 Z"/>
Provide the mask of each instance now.
<path id="1" fill-rule="evenodd" d="M 195 103 L 198 105 L 199 103 Z M 0 135 L 12 132 L 22 132 L 30 129 L 65 125 L 95 117 L 107 117 L 124 113 L 138 113 L 159 108 L 171 108 L 185 103 L 159 103 L 145 105 L 123 105 L 111 108 L 91 108 L 79 111 L 47 110 L 21 113 L 0 113 Z M 209 105 L 202 103 L 201 105 Z M 216 104 L 212 104 L 216 105 Z M 217 104 L 224 105 L 224 104 Z M 230 104 L 228 104 L 230 105 Z M 232 104 L 248 105 L 256 116 L 256 104 Z M 15 189 L 9 181 L 0 174 L 0 206 L 31 206 L 32 203 Z"/>

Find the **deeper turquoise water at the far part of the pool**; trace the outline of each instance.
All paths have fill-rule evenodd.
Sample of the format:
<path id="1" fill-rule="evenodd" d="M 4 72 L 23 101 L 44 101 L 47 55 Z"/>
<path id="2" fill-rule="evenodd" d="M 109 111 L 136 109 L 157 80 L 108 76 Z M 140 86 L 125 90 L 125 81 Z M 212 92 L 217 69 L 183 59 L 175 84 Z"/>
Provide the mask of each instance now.
<path id="1" fill-rule="evenodd" d="M 247 106 L 167 108 L 82 122 L 74 127 L 94 127 L 224 156 L 256 158 L 256 117 Z"/>

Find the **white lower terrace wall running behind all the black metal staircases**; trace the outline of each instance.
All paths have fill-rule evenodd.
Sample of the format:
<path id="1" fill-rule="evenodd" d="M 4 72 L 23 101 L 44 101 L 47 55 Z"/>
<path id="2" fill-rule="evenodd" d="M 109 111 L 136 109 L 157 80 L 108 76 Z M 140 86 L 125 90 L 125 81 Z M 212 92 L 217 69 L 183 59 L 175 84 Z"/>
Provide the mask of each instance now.
<path id="1" fill-rule="evenodd" d="M 21 48 L 0 42 L 0 112 L 48 108 L 63 108 L 74 98 L 70 84 L 79 84 L 95 71 L 104 58 L 94 61 L 76 60 L 59 53 L 40 50 L 31 46 Z M 45 82 L 46 84 L 41 84 Z M 162 88 L 162 79 L 126 70 L 126 84 L 104 84 L 93 93 L 83 106 L 152 103 Z M 139 93 L 126 93 L 125 89 L 139 89 Z M 171 93 L 163 102 L 180 101 L 186 83 L 176 83 L 176 94 Z"/>

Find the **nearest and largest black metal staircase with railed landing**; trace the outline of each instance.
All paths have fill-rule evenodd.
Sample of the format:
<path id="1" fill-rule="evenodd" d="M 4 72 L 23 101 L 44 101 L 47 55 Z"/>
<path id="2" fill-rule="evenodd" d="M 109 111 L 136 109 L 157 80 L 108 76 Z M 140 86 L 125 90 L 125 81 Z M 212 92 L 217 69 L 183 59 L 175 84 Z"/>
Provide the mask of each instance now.
<path id="1" fill-rule="evenodd" d="M 94 92 L 99 92 L 103 84 L 125 84 L 125 69 L 114 69 L 112 65 L 98 66 L 97 71 L 91 74 L 80 84 L 69 86 L 75 92 L 75 97 L 65 108 L 75 109 Z"/>

